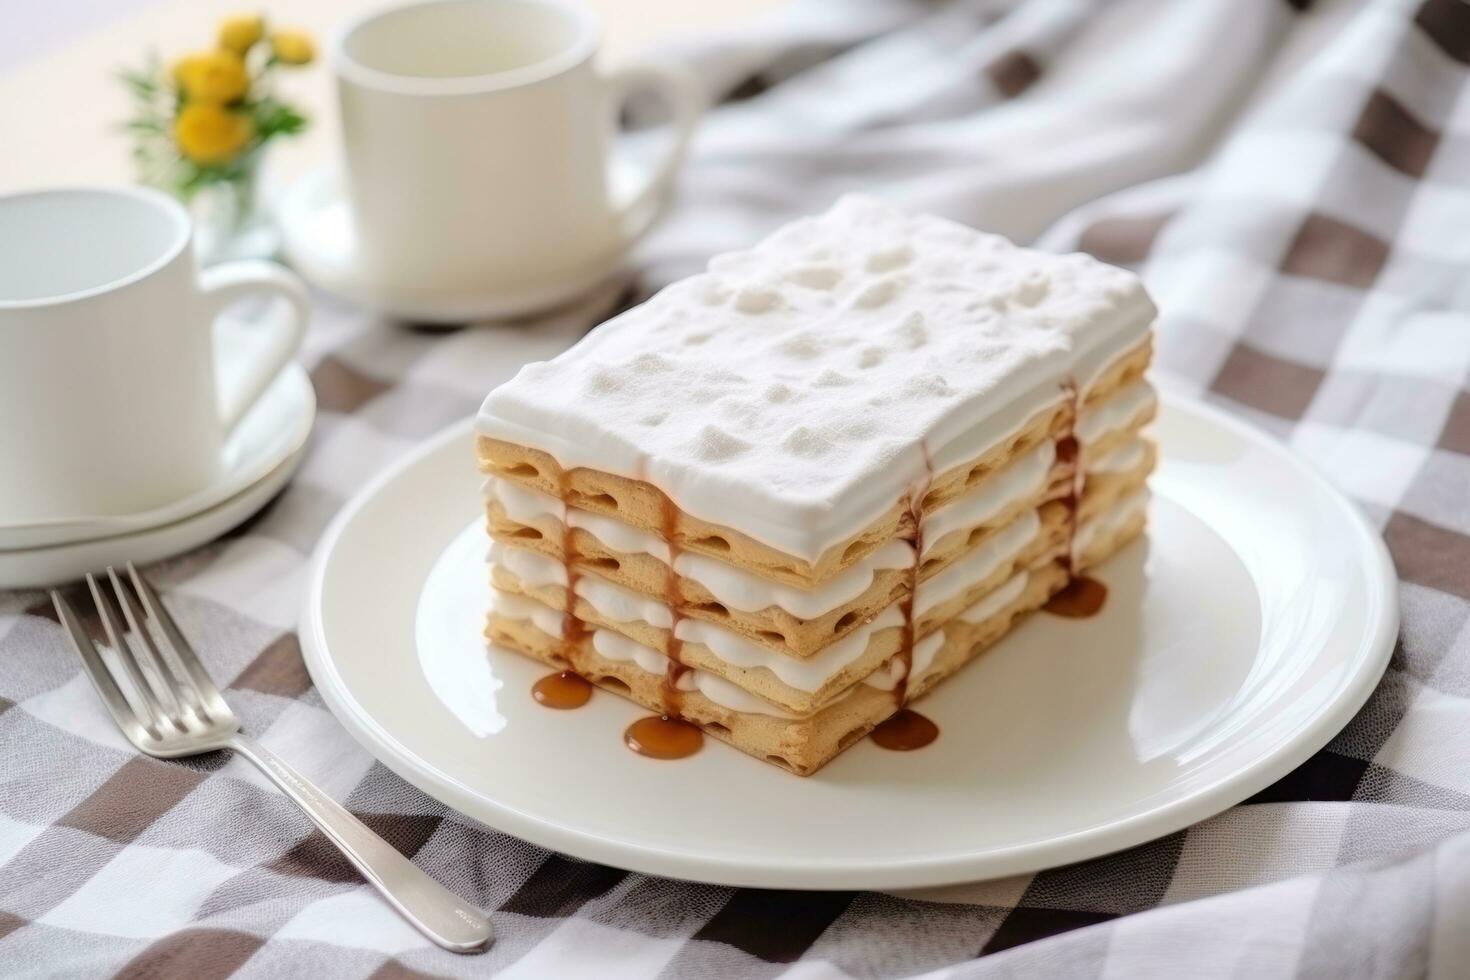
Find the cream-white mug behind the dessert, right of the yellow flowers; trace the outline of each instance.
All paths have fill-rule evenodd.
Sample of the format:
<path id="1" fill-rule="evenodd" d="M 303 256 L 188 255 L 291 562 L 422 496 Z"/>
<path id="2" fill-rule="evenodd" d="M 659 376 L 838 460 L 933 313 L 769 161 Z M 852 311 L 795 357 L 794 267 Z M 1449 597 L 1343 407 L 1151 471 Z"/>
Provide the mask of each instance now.
<path id="1" fill-rule="evenodd" d="M 598 28 L 560 0 L 428 0 L 337 37 L 357 263 L 384 292 L 506 311 L 606 276 L 657 219 L 703 109 L 670 68 L 603 73 Z M 625 98 L 656 90 L 673 137 L 641 185 L 614 190 L 609 144 Z"/>

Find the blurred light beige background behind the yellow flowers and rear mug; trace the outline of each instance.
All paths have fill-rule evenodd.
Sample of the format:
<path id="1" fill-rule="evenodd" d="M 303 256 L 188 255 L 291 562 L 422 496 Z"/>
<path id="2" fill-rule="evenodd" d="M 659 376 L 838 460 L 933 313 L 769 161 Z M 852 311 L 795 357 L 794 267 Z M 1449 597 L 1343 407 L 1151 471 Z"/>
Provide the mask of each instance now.
<path id="1" fill-rule="evenodd" d="M 750 21 L 779 1 L 587 0 L 587 6 L 603 18 L 604 63 L 619 63 L 641 48 L 679 35 Z M 109 15 L 97 29 L 50 46 L 0 73 L 0 192 L 131 181 L 128 140 L 115 131 L 128 116 L 129 104 L 113 69 L 141 63 L 150 47 L 171 60 L 191 48 L 212 46 L 223 16 L 262 9 L 268 16 L 275 12 L 273 19 L 282 26 L 310 31 L 325 48 L 335 25 L 376 6 L 384 6 L 382 0 L 260 4 L 250 0 L 160 0 L 122 18 Z M 32 9 L 26 16 L 44 13 Z M 301 140 L 272 150 L 270 169 L 278 179 L 298 173 L 337 145 L 335 98 L 326 66 L 319 62 L 281 75 L 281 93 L 307 109 L 313 126 Z"/>

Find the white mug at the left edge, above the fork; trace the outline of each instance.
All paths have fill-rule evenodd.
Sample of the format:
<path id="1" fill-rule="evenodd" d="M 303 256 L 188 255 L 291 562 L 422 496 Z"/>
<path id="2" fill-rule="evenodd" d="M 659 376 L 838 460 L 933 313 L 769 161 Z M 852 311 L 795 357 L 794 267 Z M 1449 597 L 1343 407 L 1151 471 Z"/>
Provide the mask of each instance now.
<path id="1" fill-rule="evenodd" d="M 219 363 L 215 319 L 260 292 L 290 314 Z M 200 272 L 188 213 L 157 191 L 0 197 L 0 525 L 132 514 L 207 486 L 307 311 L 276 264 Z"/>

